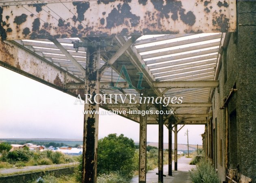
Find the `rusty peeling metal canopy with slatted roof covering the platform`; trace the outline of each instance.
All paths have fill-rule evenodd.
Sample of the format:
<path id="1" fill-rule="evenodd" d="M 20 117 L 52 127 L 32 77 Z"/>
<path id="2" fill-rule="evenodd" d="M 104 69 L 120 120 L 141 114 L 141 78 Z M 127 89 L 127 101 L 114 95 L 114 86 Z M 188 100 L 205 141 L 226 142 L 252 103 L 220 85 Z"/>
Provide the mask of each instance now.
<path id="1" fill-rule="evenodd" d="M 76 52 L 72 41 L 80 40 L 82 42 L 85 39 L 90 41 L 90 39 L 94 38 L 83 37 L 100 35 L 97 39 L 105 40 L 108 43 L 108 47 L 100 52 L 100 64 L 103 68 L 106 65 L 105 63 L 111 60 L 115 56 L 115 53 L 129 42 L 130 37 L 128 36 L 130 34 L 141 35 L 161 32 L 161 34 L 156 35 L 133 37 L 137 38 L 137 40 L 128 49 L 123 50 L 121 56 L 114 60 L 111 67 L 104 68 L 100 82 L 104 85 L 104 83 L 117 81 L 123 65 L 126 66 L 134 85 L 137 85 L 136 83 L 138 82 L 137 73 L 143 72 L 142 86 L 148 88 L 148 96 L 182 96 L 184 103 L 206 104 L 203 107 L 199 107 L 198 105 L 184 105 L 185 107 L 179 108 L 170 106 L 167 109 L 174 109 L 175 113 L 180 114 L 176 117 L 177 121 L 188 121 L 188 124 L 205 123 L 205 121 L 202 122 L 202 117 L 199 119 L 193 119 L 193 117 L 183 119 L 182 116 L 187 116 L 188 114 L 202 116 L 200 114 L 206 114 L 209 107 L 207 102 L 209 102 L 211 87 L 172 88 L 167 86 L 159 88 L 154 87 L 154 83 L 163 81 L 200 82 L 216 80 L 220 48 L 223 45 L 225 33 L 194 33 L 234 31 L 236 29 L 234 1 L 217 2 L 212 0 L 204 2 L 191 1 L 189 3 L 187 1 L 172 1 L 172 3 L 176 3 L 173 4 L 174 9 L 171 9 L 170 7 L 173 6 L 170 6 L 166 2 L 158 2 L 158 6 L 156 6 L 154 1 L 139 1 L 141 3 L 135 3 L 128 0 L 107 3 L 106 1 L 71 2 L 62 0 L 60 2 L 59 0 L 41 0 L 40 2 L 41 4 L 36 4 L 35 1 L 31 0 L 5 0 L 0 2 L 0 14 L 2 15 L 0 17 L 0 29 L 2 39 L 12 40 L 2 41 L 0 44 L 1 66 L 24 74 L 27 77 L 73 96 L 77 97 L 78 94 L 82 96 L 84 94 L 82 87 L 67 89 L 66 86 L 67 83 L 82 83 L 85 81 L 81 68 L 83 69 L 86 66 L 86 49 L 79 49 Z M 58 5 L 57 8 L 56 5 Z M 78 7 L 85 5 L 89 6 L 89 8 L 83 14 L 79 14 L 80 11 L 78 10 L 80 8 Z M 59 7 L 62 6 L 63 8 L 60 11 Z M 141 11 L 135 11 L 135 6 L 137 9 L 139 7 Z M 114 26 L 108 27 L 107 25 L 110 21 L 108 17 L 111 15 L 111 12 L 115 10 L 114 12 L 117 13 L 117 18 L 119 15 L 118 12 L 120 13 L 124 9 L 126 9 L 126 13 L 131 17 L 124 17 L 122 15 L 123 17 L 121 19 L 124 19 L 124 23 L 117 25 L 118 21 L 115 20 L 113 23 Z M 143 11 L 144 9 L 147 11 L 152 10 L 150 21 L 145 22 L 145 19 L 149 17 L 143 14 L 145 13 Z M 168 13 L 164 14 L 163 12 L 165 11 L 163 10 Z M 99 14 L 93 13 L 94 17 L 91 17 L 91 13 L 90 15 L 87 14 L 91 11 L 99 12 Z M 188 18 L 182 20 L 183 15 L 187 16 L 191 14 L 189 12 L 193 15 L 198 15 L 195 17 L 199 17 L 195 19 L 193 25 L 185 23 L 186 20 L 189 20 Z M 95 19 L 95 15 L 100 16 Z M 174 20 L 176 15 L 177 19 Z M 219 17 L 213 19 L 214 15 Z M 103 24 L 97 23 L 100 21 L 100 17 L 105 20 L 104 23 L 102 20 Z M 133 20 L 135 17 L 141 17 L 138 20 L 138 24 Z M 65 21 L 61 21 L 61 19 Z M 223 23 L 225 19 L 228 20 Z M 46 21 L 48 26 L 43 21 Z M 216 24 L 214 21 L 217 21 L 219 24 Z M 132 23 L 135 23 L 136 26 Z M 91 26 L 92 24 L 94 26 Z M 175 26 L 176 24 L 177 26 Z M 223 29 L 220 25 L 226 26 L 226 28 Z M 78 29 L 79 27 L 81 29 Z M 85 30 L 85 27 L 88 29 Z M 124 32 L 123 30 L 128 27 L 129 29 Z M 143 30 L 146 27 L 149 30 Z M 76 33 L 74 33 L 75 28 Z M 104 32 L 104 34 L 99 30 Z M 165 34 L 184 32 L 186 34 Z M 123 33 L 126 35 L 120 36 Z M 108 36 L 113 34 L 118 34 L 119 36 Z M 67 51 L 69 57 L 52 42 L 52 38 L 56 38 L 65 51 Z M 70 55 L 73 61 L 70 60 Z M 74 62 L 77 62 L 81 68 L 78 68 Z M 143 67 L 141 67 L 142 65 Z M 135 100 L 139 101 L 139 91 L 136 89 L 112 90 L 102 87 L 100 92 L 102 94 L 136 94 L 137 98 Z M 111 107 L 102 105 L 102 107 L 104 109 L 138 110 L 139 106 L 126 106 L 129 102 L 128 99 L 125 100 L 124 105 L 121 104 L 120 98 L 118 98 L 118 101 L 120 103 L 119 105 Z M 158 110 L 157 106 L 154 105 L 148 107 L 152 111 Z M 136 116 L 123 116 L 139 122 L 139 118 Z M 206 120 L 206 117 L 204 119 Z M 152 121 L 156 120 L 156 118 L 152 116 L 148 120 L 150 124 L 154 124 Z"/>

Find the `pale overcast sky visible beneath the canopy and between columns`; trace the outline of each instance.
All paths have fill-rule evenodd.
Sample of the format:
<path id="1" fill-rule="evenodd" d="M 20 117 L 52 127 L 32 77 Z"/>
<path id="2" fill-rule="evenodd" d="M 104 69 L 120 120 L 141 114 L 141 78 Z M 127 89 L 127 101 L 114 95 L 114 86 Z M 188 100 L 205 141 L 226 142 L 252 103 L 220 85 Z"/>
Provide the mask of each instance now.
<path id="1" fill-rule="evenodd" d="M 82 139 L 84 106 L 75 104 L 76 97 L 1 66 L 0 87 L 0 138 Z M 204 125 L 184 126 L 178 132 L 178 143 L 187 144 L 187 129 L 189 144 L 202 145 Z M 139 142 L 139 123 L 115 114 L 100 115 L 99 138 L 111 133 Z M 158 142 L 157 125 L 147 126 L 147 141 Z M 168 143 L 165 126 L 164 143 Z"/>

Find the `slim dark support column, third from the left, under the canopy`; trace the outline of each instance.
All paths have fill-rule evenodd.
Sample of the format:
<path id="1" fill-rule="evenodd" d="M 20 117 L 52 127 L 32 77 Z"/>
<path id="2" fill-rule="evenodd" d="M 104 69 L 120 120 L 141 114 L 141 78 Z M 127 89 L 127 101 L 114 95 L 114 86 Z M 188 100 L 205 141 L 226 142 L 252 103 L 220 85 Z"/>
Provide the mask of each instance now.
<path id="1" fill-rule="evenodd" d="M 160 111 L 163 106 L 160 105 Z M 158 134 L 158 183 L 163 183 L 163 114 L 159 113 L 159 134 Z"/>

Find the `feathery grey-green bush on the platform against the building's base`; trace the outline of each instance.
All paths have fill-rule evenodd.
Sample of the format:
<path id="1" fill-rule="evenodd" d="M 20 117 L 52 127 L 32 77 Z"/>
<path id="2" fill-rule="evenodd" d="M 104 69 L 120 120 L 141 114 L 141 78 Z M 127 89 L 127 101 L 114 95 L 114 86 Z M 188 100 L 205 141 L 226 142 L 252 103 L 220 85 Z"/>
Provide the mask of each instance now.
<path id="1" fill-rule="evenodd" d="M 210 161 L 202 158 L 196 168 L 189 171 L 189 177 L 193 183 L 219 183 L 219 178 Z"/>

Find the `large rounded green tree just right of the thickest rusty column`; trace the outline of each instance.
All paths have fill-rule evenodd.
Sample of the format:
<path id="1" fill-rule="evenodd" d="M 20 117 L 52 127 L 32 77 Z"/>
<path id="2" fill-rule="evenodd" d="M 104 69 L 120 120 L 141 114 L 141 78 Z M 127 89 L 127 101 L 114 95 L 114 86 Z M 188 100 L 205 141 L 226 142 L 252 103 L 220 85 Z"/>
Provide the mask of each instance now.
<path id="1" fill-rule="evenodd" d="M 98 172 L 118 171 L 130 177 L 136 169 L 134 163 L 135 144 L 121 134 L 109 134 L 98 141 Z"/>

